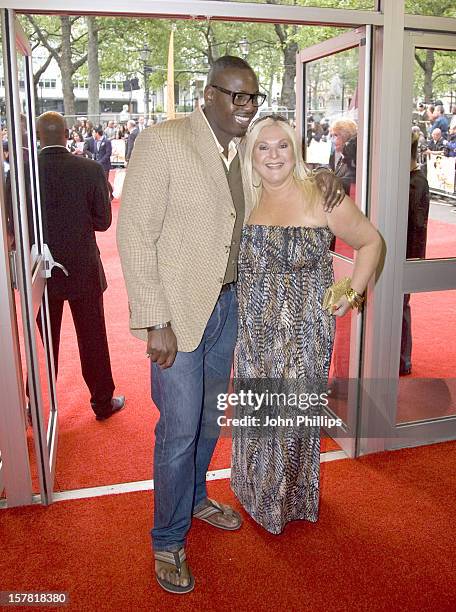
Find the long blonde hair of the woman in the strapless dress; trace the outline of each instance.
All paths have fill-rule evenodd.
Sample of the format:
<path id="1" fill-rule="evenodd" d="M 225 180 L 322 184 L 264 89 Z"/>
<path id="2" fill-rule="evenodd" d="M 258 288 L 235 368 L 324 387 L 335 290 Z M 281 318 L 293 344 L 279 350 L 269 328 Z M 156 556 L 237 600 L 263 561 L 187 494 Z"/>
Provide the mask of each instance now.
<path id="1" fill-rule="evenodd" d="M 269 126 L 278 126 L 282 128 L 287 135 L 288 140 L 291 142 L 295 159 L 295 167 L 293 170 L 294 179 L 298 186 L 306 193 L 306 195 L 309 195 L 313 200 L 316 195 L 315 179 L 311 170 L 309 170 L 302 159 L 302 147 L 298 141 L 296 131 L 284 117 L 281 117 L 280 115 L 268 115 L 266 117 L 262 117 L 261 119 L 257 119 L 252 123 L 249 131 L 247 132 L 247 138 L 245 141 L 243 170 L 246 182 L 250 187 L 250 196 L 252 198 L 254 207 L 258 206 L 260 202 L 263 186 L 260 176 L 253 167 L 253 152 L 261 130 Z"/>

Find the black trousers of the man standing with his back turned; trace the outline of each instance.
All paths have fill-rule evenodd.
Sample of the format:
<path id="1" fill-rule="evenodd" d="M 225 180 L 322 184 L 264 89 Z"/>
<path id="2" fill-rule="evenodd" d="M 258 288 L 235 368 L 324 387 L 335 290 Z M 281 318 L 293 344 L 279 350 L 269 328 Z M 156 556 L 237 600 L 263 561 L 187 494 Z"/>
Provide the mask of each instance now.
<path id="1" fill-rule="evenodd" d="M 64 302 L 64 299 L 49 296 L 49 316 L 51 319 L 56 378 Z M 68 300 L 68 304 L 78 339 L 82 376 L 90 391 L 90 403 L 95 414 L 103 414 L 111 409 L 111 399 L 114 393 L 114 381 L 106 337 L 103 294 Z M 41 313 L 38 313 L 37 323 L 41 333 Z"/>

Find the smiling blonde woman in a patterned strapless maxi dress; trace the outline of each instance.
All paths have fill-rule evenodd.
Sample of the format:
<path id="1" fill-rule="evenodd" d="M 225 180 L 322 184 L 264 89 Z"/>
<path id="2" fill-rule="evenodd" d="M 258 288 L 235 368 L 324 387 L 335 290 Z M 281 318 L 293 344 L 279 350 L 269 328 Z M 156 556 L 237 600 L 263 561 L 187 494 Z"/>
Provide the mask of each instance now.
<path id="1" fill-rule="evenodd" d="M 332 315 L 343 316 L 351 306 L 361 305 L 378 263 L 380 237 L 348 197 L 324 212 L 295 132 L 280 117 L 252 125 L 244 170 L 256 205 L 240 245 L 236 384 L 245 379 L 257 379 L 254 386 L 261 386 L 258 379 L 280 379 L 284 386 L 290 381 L 326 382 Z M 352 245 L 357 258 L 352 291 L 336 301 L 330 314 L 322 302 L 334 282 L 329 252 L 333 235 Z M 252 429 L 236 428 L 233 440 L 232 488 L 247 512 L 272 533 L 280 533 L 291 520 L 316 521 L 319 428 L 305 436 L 293 427 L 269 427 L 262 434 Z"/>

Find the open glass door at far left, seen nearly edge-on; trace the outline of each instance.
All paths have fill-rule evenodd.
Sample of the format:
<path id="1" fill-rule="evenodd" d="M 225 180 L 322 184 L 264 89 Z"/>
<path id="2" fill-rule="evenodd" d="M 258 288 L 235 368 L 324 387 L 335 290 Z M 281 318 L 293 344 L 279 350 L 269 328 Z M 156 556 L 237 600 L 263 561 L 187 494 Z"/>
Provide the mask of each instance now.
<path id="1" fill-rule="evenodd" d="M 6 134 L 9 171 L 5 180 L 7 249 L 20 340 L 22 406 L 33 426 L 41 502 L 52 501 L 58 422 L 43 241 L 31 49 L 15 14 L 2 10 Z M 18 349 L 19 350 L 19 349 Z M 4 411 L 16 411 L 8 403 Z M 11 416 L 11 415 L 10 415 Z M 5 433 L 7 435 L 7 432 Z M 14 456 L 10 457 L 14 462 Z M 5 482 L 8 494 L 8 483 Z"/>

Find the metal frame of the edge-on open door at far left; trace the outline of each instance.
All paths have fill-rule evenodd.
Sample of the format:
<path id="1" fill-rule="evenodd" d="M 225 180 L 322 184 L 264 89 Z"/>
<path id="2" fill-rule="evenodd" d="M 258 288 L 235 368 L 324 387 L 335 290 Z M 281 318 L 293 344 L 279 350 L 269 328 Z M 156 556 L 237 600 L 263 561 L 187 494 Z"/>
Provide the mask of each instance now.
<path id="1" fill-rule="evenodd" d="M 33 426 L 33 439 L 40 483 L 40 501 L 48 504 L 52 501 L 52 491 L 55 476 L 55 462 L 58 440 L 58 412 L 55 392 L 55 373 L 53 351 L 50 333 L 49 303 L 46 288 L 47 260 L 43 240 L 41 218 L 41 203 L 38 175 L 38 159 L 35 130 L 35 108 L 33 96 L 32 51 L 27 37 L 22 30 L 15 12 L 9 9 L 1 10 L 3 62 L 5 67 L 5 102 L 10 135 L 10 177 L 11 199 L 14 219 L 15 251 L 12 259 L 15 262 L 16 286 L 21 302 L 22 331 L 25 346 L 25 362 L 27 368 L 29 404 Z M 24 163 L 24 142 L 22 133 L 22 104 L 18 82 L 17 54 L 20 54 L 24 69 L 24 96 L 26 101 L 27 154 L 28 168 Z M 29 180 L 30 200 L 27 202 L 26 181 Z M 34 245 L 30 249 L 28 217 L 33 215 Z M 49 394 L 49 416 L 46 428 L 43 409 L 43 387 L 40 378 L 38 359 L 38 342 L 36 318 L 41 309 L 41 325 L 43 329 L 43 350 L 46 361 L 45 384 Z M 19 350 L 19 349 L 18 349 Z M 17 364 L 20 367 L 20 364 Z M 22 385 L 22 371 L 20 372 Z M 21 405 L 8 403 L 7 413 L 25 412 L 26 399 L 23 391 L 19 393 Z M 23 428 L 24 424 L 23 424 Z M 21 449 L 21 457 L 23 449 Z M 15 458 L 10 458 L 12 465 Z M 5 475 L 9 474 L 6 471 Z M 14 490 L 9 477 L 5 478 L 5 488 L 8 495 L 8 505 L 11 505 L 9 491 Z M 27 492 L 30 498 L 31 490 Z"/>

